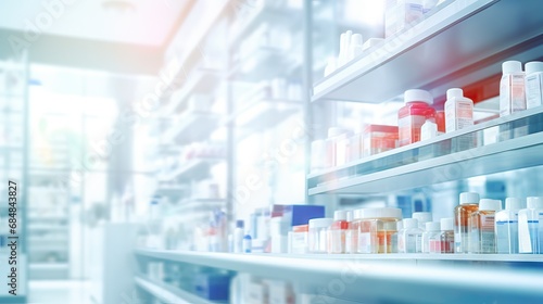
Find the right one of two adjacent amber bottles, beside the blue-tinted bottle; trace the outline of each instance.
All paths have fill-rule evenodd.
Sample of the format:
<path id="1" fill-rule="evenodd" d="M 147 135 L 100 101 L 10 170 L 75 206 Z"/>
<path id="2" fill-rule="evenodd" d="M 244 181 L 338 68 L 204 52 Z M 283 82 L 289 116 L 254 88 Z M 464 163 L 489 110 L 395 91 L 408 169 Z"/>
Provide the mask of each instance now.
<path id="1" fill-rule="evenodd" d="M 495 214 L 502 210 L 502 201 L 482 199 L 479 210 L 471 214 L 470 253 L 496 253 Z"/>

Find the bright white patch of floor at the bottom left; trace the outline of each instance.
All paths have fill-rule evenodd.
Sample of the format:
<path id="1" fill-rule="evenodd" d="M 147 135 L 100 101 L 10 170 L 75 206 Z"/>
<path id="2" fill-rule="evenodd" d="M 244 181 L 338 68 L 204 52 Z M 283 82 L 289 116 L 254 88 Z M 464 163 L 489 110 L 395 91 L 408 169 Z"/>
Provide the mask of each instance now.
<path id="1" fill-rule="evenodd" d="M 86 281 L 29 281 L 28 288 L 28 304 L 93 304 Z"/>

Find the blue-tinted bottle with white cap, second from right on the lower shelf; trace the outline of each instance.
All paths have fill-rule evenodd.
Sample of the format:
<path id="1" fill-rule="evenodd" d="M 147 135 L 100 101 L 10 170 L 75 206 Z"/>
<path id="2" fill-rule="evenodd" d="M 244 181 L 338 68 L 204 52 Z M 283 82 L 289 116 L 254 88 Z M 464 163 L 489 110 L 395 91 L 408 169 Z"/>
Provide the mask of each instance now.
<path id="1" fill-rule="evenodd" d="M 518 212 L 522 201 L 517 198 L 505 199 L 505 210 L 496 213 L 497 253 L 518 253 Z"/>

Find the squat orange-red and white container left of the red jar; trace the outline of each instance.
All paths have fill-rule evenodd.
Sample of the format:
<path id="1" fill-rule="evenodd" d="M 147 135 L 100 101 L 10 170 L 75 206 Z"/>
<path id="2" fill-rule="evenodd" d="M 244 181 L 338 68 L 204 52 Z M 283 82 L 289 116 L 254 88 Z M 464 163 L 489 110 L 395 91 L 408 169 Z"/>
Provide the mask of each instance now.
<path id="1" fill-rule="evenodd" d="M 362 134 L 363 156 L 392 150 L 397 145 L 397 127 L 367 125 Z"/>

